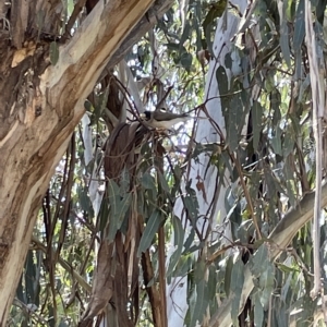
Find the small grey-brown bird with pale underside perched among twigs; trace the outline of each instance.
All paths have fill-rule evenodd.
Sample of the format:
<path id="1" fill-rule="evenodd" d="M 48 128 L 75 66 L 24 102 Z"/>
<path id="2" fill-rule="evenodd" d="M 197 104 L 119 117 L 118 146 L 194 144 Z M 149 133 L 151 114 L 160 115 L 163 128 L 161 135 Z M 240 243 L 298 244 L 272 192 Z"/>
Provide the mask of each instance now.
<path id="1" fill-rule="evenodd" d="M 189 119 L 194 119 L 187 113 L 173 113 L 166 110 L 144 111 L 140 114 L 146 124 L 153 129 L 170 130 L 179 122 L 185 122 Z"/>

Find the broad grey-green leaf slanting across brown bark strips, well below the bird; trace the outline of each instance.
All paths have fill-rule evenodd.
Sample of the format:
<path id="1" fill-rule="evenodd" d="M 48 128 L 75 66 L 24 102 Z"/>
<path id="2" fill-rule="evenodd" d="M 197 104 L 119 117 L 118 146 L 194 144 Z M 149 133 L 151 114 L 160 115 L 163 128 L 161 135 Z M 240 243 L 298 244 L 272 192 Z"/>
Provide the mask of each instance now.
<path id="1" fill-rule="evenodd" d="M 156 232 L 158 231 L 159 227 L 161 226 L 164 219 L 162 214 L 158 209 L 155 209 L 154 213 L 150 215 L 146 227 L 143 231 L 140 246 L 137 250 L 137 256 L 140 257 L 143 252 L 145 252 L 147 249 L 150 247 Z"/>

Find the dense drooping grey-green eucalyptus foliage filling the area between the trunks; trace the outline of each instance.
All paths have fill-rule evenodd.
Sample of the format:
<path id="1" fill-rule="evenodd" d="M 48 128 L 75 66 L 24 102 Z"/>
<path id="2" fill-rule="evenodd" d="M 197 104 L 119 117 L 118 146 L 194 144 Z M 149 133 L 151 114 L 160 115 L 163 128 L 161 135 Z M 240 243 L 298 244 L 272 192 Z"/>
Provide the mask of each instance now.
<path id="1" fill-rule="evenodd" d="M 322 299 L 310 298 L 311 227 L 299 230 L 278 257 L 271 255 L 274 244 L 268 240 L 286 213 L 315 187 L 304 0 L 277 2 L 257 1 L 253 22 L 235 36 L 225 58 L 214 56 L 216 20 L 225 19 L 226 9 L 239 15 L 238 8 L 226 1 L 190 0 L 186 9 L 178 11 L 175 3 L 126 55 L 128 69 L 119 65 L 102 76 L 85 102 L 87 117 L 76 128 L 44 198 L 10 325 L 77 325 L 89 302 L 104 240 L 114 240 L 123 261 L 119 264 L 131 269 L 123 271 L 130 283 L 121 287 L 128 289 L 129 307 L 112 307 L 126 311 L 134 325 L 156 325 L 154 299 L 156 292 L 164 294 L 165 266 L 168 283 L 186 277 L 186 326 L 215 316 L 231 295 L 235 326 L 242 322 L 308 326 L 316 319 Z M 315 5 L 317 13 L 318 8 L 325 11 L 324 1 L 315 1 Z M 315 29 L 323 52 L 324 16 L 317 16 Z M 56 44 L 51 49 L 55 64 Z M 123 162 L 113 165 L 114 156 L 109 158 L 110 169 L 119 165 L 122 169 L 108 179 L 106 155 L 102 157 L 117 131 L 112 116 L 119 119 L 125 112 L 129 122 L 135 121 L 137 110 L 154 109 L 162 98 L 170 110 L 208 114 L 205 105 L 209 99 L 204 94 L 207 68 L 199 56 L 205 50 L 216 63 L 215 74 L 207 78 L 216 78 L 219 86 L 226 133 L 213 125 L 220 142 L 195 144 L 191 123 L 169 136 L 143 131 L 137 138 L 137 130 Z M 235 64 L 241 73 L 229 81 L 229 69 Z M 121 147 L 126 144 L 120 142 Z M 210 157 L 207 169 L 216 168 L 220 177 L 216 192 L 221 185 L 228 190 L 217 194 L 225 198 L 225 222 L 215 217 L 208 229 L 199 226 L 203 217 L 198 209 L 199 203 L 207 202 L 208 190 L 198 177 L 196 187 L 203 197 L 197 197 L 187 179 L 191 162 L 201 165 L 204 155 Z M 325 172 L 325 153 L 322 156 Z M 223 178 L 227 173 L 230 180 Z M 173 214 L 177 199 L 183 203 L 185 220 Z M 216 227 L 227 222 L 232 231 L 228 243 L 220 226 Z M 325 233 L 324 219 L 323 267 Z M 172 255 L 166 264 L 161 255 L 167 252 Z M 112 266 L 119 262 L 113 253 Z M 246 274 L 251 274 L 254 288 L 246 311 L 239 316 Z M 325 277 L 323 289 L 326 292 Z M 114 314 L 108 316 L 117 319 Z"/>

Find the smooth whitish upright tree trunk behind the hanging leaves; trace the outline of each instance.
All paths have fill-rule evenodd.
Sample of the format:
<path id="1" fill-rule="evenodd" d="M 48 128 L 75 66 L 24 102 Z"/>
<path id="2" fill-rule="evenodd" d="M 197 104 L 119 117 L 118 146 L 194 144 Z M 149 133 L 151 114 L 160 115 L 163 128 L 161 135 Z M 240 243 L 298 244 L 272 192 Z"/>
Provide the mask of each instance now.
<path id="1" fill-rule="evenodd" d="M 239 8 L 242 14 L 245 14 L 247 2 L 245 0 L 232 1 L 233 5 Z M 210 61 L 209 70 L 206 77 L 206 92 L 205 92 L 205 106 L 209 117 L 219 125 L 223 134 L 226 134 L 225 119 L 221 111 L 221 104 L 219 99 L 219 89 L 216 78 L 216 71 L 219 65 L 223 66 L 225 56 L 231 50 L 231 39 L 240 28 L 240 17 L 233 13 L 227 13 L 227 20 L 222 16 L 218 20 L 215 40 L 213 45 L 213 57 Z M 239 63 L 235 60 L 235 66 L 232 66 L 232 71 L 227 69 L 230 75 L 237 75 L 240 73 Z M 199 120 L 197 130 L 195 133 L 195 141 L 198 143 L 220 143 L 221 140 L 217 133 L 217 130 L 209 120 Z M 201 180 L 198 180 L 201 177 Z M 230 181 L 229 172 L 225 174 L 226 181 Z M 225 195 L 227 187 L 219 182 L 217 168 L 209 164 L 209 157 L 201 155 L 198 164 L 192 162 L 190 170 L 190 179 L 192 179 L 192 187 L 196 192 L 198 201 L 198 215 L 199 217 L 206 217 L 208 219 L 198 219 L 197 229 L 204 231 L 202 234 L 206 234 L 207 228 L 210 226 L 221 225 L 226 217 Z M 197 183 L 203 183 L 201 187 L 197 187 Z M 178 217 L 185 219 L 182 215 L 184 205 L 182 201 L 177 201 L 174 207 L 174 214 Z M 219 217 L 219 218 L 218 218 Z M 209 223 L 209 225 L 208 225 Z M 191 227 L 189 226 L 189 230 Z M 229 233 L 229 226 L 221 227 L 222 233 L 226 235 L 226 240 L 231 240 Z M 187 238 L 185 233 L 185 239 Z M 171 241 L 173 244 L 173 240 Z M 168 254 L 168 262 L 174 247 L 170 246 L 171 253 Z M 167 287 L 167 301 L 168 301 L 168 326 L 184 326 L 184 317 L 186 315 L 189 305 L 186 301 L 187 296 L 187 279 L 186 278 L 172 278 L 171 283 Z M 219 325 L 220 326 L 220 325 Z M 221 325 L 227 326 L 227 325 Z"/>

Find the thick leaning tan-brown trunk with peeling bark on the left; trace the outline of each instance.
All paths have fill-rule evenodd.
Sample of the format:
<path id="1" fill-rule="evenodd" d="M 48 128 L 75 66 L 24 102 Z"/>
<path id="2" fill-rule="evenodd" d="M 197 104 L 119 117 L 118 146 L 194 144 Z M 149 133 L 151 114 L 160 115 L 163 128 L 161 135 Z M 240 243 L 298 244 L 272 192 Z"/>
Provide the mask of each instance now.
<path id="1" fill-rule="evenodd" d="M 105 2 L 99 1 L 74 36 L 59 47 L 55 65 L 49 65 L 48 43 L 37 41 L 38 36 L 24 43 L 27 22 L 33 25 L 35 20 L 31 9 L 35 3 L 20 2 L 11 9 L 12 44 L 1 39 L 1 326 L 15 294 L 41 198 L 84 113 L 84 99 L 153 0 Z"/>

